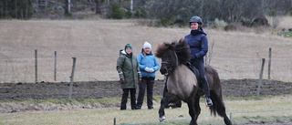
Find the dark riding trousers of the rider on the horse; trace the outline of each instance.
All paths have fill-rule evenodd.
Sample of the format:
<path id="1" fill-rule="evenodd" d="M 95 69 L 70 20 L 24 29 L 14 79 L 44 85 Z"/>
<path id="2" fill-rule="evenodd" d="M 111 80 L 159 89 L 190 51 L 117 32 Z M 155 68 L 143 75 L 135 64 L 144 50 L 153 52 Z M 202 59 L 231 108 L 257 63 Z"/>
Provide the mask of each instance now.
<path id="1" fill-rule="evenodd" d="M 201 87 L 203 89 L 203 92 L 206 96 L 206 98 L 210 98 L 210 90 L 209 90 L 209 84 L 208 84 L 208 80 L 206 78 L 206 76 L 204 75 L 204 65 L 203 65 L 203 61 L 202 60 L 194 60 L 191 62 L 191 64 L 193 65 L 193 67 L 197 68 L 199 70 L 199 74 L 200 74 L 200 79 L 198 79 L 199 81 L 201 81 Z"/>

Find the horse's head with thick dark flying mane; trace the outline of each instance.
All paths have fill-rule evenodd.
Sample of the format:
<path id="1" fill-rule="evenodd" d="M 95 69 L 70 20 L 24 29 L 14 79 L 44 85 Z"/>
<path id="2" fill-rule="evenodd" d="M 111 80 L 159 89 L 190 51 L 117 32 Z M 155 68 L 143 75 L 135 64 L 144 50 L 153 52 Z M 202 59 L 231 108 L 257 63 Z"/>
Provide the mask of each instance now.
<path id="1" fill-rule="evenodd" d="M 190 59 L 190 47 L 185 39 L 179 42 L 173 41 L 171 44 L 163 43 L 158 45 L 155 53 L 156 57 L 162 58 L 161 73 L 169 75 L 179 64 L 185 64 Z"/>

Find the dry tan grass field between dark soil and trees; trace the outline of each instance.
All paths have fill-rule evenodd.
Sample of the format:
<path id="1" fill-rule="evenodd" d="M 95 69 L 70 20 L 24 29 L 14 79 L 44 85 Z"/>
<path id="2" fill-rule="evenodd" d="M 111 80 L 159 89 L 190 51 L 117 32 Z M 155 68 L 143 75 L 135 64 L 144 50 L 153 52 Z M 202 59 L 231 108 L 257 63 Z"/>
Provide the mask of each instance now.
<path id="1" fill-rule="evenodd" d="M 283 22 L 287 20 L 291 21 L 291 17 Z M 132 45 L 138 56 L 144 41 L 149 41 L 155 52 L 158 44 L 178 40 L 190 32 L 189 28 L 135 24 L 133 20 L 0 21 L 0 83 L 34 82 L 35 49 L 39 58 L 38 81 L 54 81 L 54 51 L 57 81 L 69 81 L 71 57 L 77 57 L 76 81 L 117 80 L 116 59 L 126 44 Z M 291 38 L 271 36 L 269 29 L 237 32 L 205 29 L 205 32 L 210 45 L 214 43 L 210 50 L 214 53 L 211 65 L 221 78 L 258 78 L 261 58 L 267 58 L 268 48 L 272 47 L 271 78 L 291 81 Z M 267 67 L 264 71 L 266 78 Z M 156 75 L 163 78 L 159 72 Z"/>

